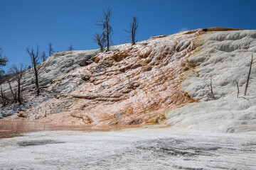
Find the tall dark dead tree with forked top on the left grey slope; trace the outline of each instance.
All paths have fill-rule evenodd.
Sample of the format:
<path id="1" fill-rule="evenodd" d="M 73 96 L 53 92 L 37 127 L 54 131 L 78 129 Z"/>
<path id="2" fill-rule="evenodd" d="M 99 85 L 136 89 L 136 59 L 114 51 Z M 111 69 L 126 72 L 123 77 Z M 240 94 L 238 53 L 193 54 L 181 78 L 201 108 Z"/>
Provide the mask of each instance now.
<path id="1" fill-rule="evenodd" d="M 38 74 L 40 69 L 38 68 L 39 46 L 36 45 L 36 50 L 34 50 L 33 48 L 29 49 L 28 47 L 26 47 L 26 51 L 28 52 L 28 55 L 31 58 L 31 62 L 33 65 L 33 74 L 35 75 L 35 80 L 36 80 L 36 94 L 37 96 L 39 96 L 40 94 L 39 81 L 38 81 Z"/>

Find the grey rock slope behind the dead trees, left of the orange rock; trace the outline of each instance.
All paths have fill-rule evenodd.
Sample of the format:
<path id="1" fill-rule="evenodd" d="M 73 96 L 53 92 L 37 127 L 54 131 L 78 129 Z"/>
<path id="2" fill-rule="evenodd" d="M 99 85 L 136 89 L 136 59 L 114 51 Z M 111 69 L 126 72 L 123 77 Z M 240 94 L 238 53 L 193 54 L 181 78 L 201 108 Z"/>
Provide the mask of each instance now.
<path id="1" fill-rule="evenodd" d="M 92 57 L 99 53 L 99 50 L 87 50 L 87 51 L 71 51 L 71 52 L 58 52 L 48 57 L 46 62 L 40 64 L 43 67 L 42 72 L 39 74 L 39 84 L 41 91 L 44 91 L 50 84 L 53 83 L 54 79 L 60 77 L 63 74 L 80 67 L 79 63 L 85 60 L 87 57 Z M 53 91 L 49 93 L 43 93 L 42 96 L 36 97 L 35 95 L 35 80 L 32 69 L 28 69 L 23 75 L 23 105 L 13 105 L 8 108 L 0 108 L 0 118 L 9 115 L 14 115 L 20 111 L 25 111 L 28 108 L 38 106 L 38 103 L 43 103 L 50 98 L 54 98 L 60 91 L 65 89 L 68 85 L 68 80 L 72 80 L 73 77 L 67 79 L 65 84 L 59 84 Z M 11 85 L 13 89 L 16 89 L 16 81 L 12 81 Z M 9 92 L 9 85 L 7 83 L 2 84 L 2 88 L 5 94 Z M 73 89 L 70 89 L 73 90 Z M 68 90 L 67 90 L 68 91 Z"/>

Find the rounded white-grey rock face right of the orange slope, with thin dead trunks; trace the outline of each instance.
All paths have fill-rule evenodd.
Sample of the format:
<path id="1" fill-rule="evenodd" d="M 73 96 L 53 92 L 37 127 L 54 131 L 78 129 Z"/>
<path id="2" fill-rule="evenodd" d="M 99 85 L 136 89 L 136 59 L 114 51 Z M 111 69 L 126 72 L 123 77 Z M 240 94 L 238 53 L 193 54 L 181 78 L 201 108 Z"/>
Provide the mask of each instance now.
<path id="1" fill-rule="evenodd" d="M 255 131 L 255 38 L 256 30 L 208 32 L 199 36 L 195 40 L 196 50 L 188 57 L 188 62 L 196 67 L 183 73 L 181 86 L 201 102 L 171 111 L 166 123 L 213 132 Z M 252 55 L 250 84 L 244 96 Z M 215 99 L 208 87 L 210 79 Z"/>

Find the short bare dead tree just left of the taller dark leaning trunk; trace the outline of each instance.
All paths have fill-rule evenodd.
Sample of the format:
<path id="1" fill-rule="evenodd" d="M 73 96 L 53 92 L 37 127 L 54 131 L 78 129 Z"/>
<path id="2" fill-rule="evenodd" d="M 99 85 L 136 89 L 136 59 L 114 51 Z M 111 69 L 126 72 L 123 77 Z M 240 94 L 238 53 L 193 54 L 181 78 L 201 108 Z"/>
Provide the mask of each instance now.
<path id="1" fill-rule="evenodd" d="M 22 78 L 23 78 L 23 72 L 24 72 L 24 69 L 23 69 L 23 65 L 21 64 L 20 67 L 16 67 L 16 65 L 13 65 L 11 67 L 11 73 L 13 74 L 14 76 L 14 79 L 15 81 L 17 82 L 18 84 L 18 87 L 17 87 L 17 91 L 16 91 L 16 100 L 18 101 L 18 103 L 22 103 L 22 89 L 21 89 L 21 86 L 22 86 Z"/>

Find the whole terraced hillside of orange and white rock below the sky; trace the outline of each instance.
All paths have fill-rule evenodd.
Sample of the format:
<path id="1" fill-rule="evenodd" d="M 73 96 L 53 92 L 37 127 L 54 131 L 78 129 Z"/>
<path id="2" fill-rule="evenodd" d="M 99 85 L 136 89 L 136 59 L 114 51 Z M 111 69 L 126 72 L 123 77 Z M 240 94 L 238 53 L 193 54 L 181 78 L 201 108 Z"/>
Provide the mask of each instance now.
<path id="1" fill-rule="evenodd" d="M 255 30 L 207 28 L 119 45 L 109 52 L 59 52 L 42 63 L 45 97 L 9 119 L 133 125 L 167 118 L 167 124 L 198 130 L 249 131 L 256 120 L 255 64 L 250 96 L 236 98 L 234 81 L 243 91 L 255 38 Z M 33 92 L 32 74 L 26 72 L 27 98 Z"/>

